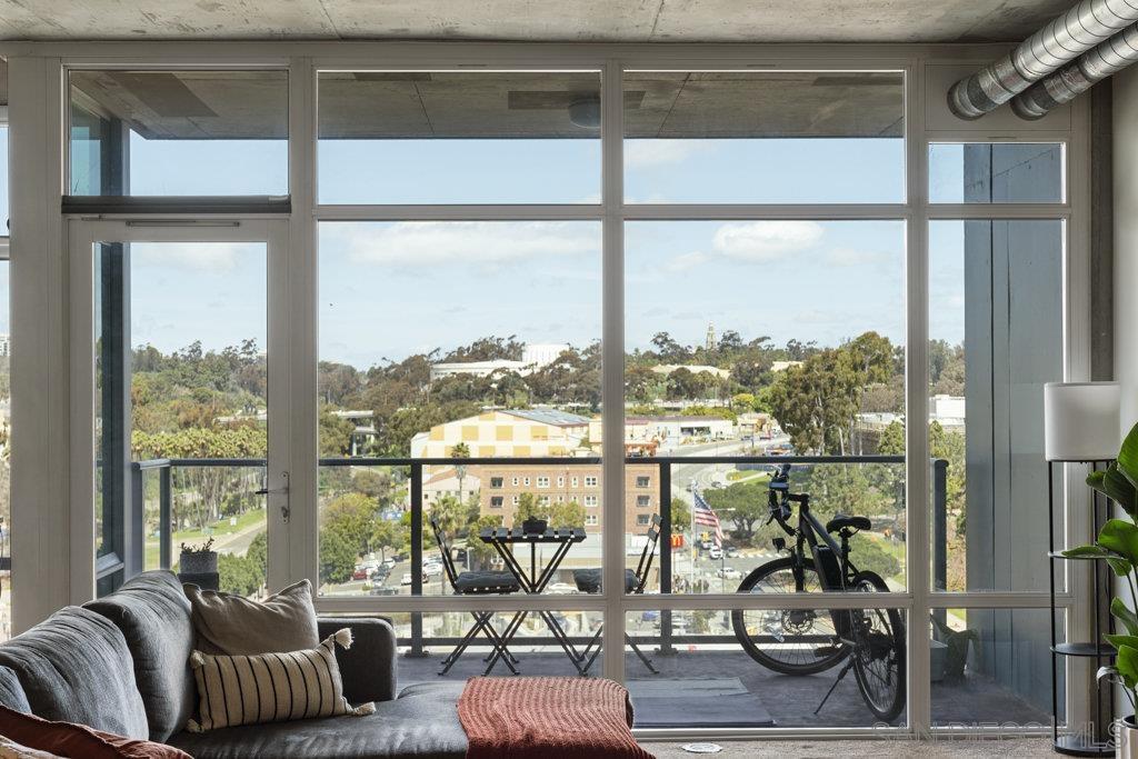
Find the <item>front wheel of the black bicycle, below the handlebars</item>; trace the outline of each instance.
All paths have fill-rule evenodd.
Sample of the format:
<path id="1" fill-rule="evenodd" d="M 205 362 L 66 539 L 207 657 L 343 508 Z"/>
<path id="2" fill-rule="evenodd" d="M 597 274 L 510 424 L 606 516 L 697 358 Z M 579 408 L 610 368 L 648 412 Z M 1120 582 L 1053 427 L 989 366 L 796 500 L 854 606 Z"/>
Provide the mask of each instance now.
<path id="1" fill-rule="evenodd" d="M 820 594 L 823 587 L 813 561 L 803 560 L 801 576 L 795 577 L 794 559 L 783 556 L 754 569 L 739 592 Z M 849 655 L 833 616 L 824 609 L 736 609 L 731 621 L 743 651 L 783 675 L 814 675 Z"/>

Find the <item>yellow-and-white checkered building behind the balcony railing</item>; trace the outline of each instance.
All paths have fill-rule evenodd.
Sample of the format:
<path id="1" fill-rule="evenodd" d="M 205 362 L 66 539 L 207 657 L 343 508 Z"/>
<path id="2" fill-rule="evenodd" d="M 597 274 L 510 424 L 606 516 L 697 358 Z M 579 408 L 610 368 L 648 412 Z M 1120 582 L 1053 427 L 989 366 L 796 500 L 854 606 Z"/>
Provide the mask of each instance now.
<path id="1" fill-rule="evenodd" d="M 473 457 L 569 456 L 588 436 L 587 416 L 551 409 L 495 410 L 411 438 L 414 459 L 445 459 L 465 444 Z"/>

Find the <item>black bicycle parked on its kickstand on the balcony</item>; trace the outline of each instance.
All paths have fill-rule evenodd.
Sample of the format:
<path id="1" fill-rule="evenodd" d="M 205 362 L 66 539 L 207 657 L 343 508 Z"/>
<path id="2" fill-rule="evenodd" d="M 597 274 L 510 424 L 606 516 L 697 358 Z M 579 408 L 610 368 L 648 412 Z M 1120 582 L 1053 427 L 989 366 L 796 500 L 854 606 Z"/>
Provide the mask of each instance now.
<path id="1" fill-rule="evenodd" d="M 810 512 L 810 495 L 791 493 L 790 469 L 781 464 L 770 479 L 766 523 L 777 522 L 793 538 L 793 547 L 787 548 L 784 537 L 774 538 L 775 548 L 790 555 L 757 567 L 739 592 L 888 592 L 880 575 L 860 571 L 850 561 L 850 538 L 869 529 L 869 520 L 836 514 L 823 526 Z M 790 523 L 792 504 L 798 504 L 797 526 Z M 732 626 L 743 650 L 776 673 L 814 675 L 846 662 L 814 713 L 851 669 L 861 698 L 879 719 L 892 721 L 905 709 L 905 624 L 896 609 L 736 609 Z"/>

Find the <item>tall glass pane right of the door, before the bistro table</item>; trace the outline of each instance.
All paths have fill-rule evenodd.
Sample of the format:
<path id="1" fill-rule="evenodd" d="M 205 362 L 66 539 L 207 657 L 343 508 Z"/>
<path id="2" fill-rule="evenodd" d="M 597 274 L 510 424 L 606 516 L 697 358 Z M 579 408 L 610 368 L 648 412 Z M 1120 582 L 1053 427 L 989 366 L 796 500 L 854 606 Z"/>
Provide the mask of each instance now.
<path id="1" fill-rule="evenodd" d="M 600 566 L 600 267 L 592 222 L 321 224 L 322 593 L 453 593 L 431 518 L 456 571 L 526 515 L 586 534 L 545 592 Z"/>

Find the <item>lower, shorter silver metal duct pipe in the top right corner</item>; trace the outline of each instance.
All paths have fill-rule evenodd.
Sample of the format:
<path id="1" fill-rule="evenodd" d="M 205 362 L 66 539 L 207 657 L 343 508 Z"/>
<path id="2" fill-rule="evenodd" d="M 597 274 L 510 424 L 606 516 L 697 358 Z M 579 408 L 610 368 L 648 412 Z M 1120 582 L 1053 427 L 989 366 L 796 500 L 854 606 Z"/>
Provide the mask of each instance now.
<path id="1" fill-rule="evenodd" d="M 1090 52 L 1057 74 L 1032 84 L 1026 92 L 1016 96 L 1012 109 L 1021 118 L 1041 118 L 1048 110 L 1074 100 L 1111 74 L 1138 61 L 1138 24 L 1125 27 L 1106 42 L 1095 46 Z"/>

